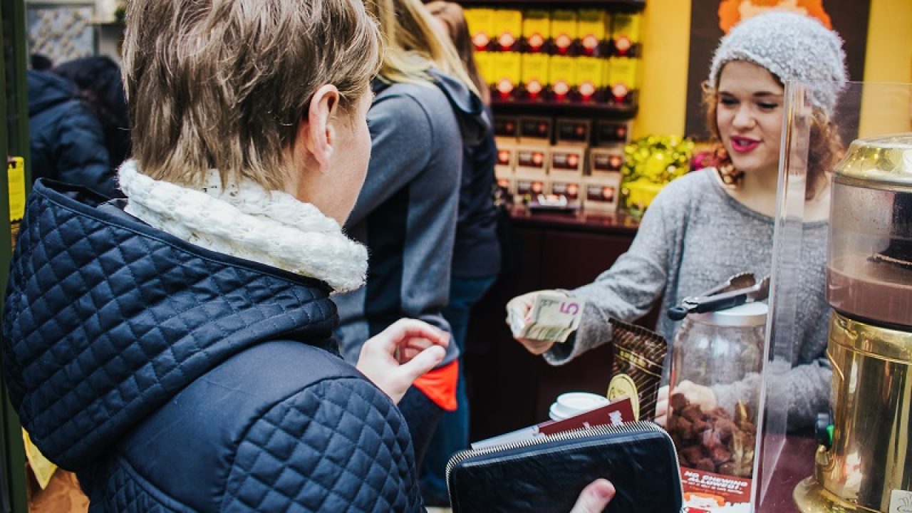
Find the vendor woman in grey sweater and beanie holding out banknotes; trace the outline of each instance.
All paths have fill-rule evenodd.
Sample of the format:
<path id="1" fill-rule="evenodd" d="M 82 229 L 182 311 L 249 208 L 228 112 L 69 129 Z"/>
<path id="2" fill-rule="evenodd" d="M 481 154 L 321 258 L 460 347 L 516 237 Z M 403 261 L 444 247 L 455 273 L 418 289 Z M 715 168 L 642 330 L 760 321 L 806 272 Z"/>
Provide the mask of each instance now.
<path id="1" fill-rule="evenodd" d="M 782 139 L 783 84 L 786 80 L 825 81 L 811 100 L 811 129 L 801 283 L 797 285 L 794 366 L 788 372 L 791 430 L 814 423 L 829 408 L 831 368 L 826 360 L 827 305 L 824 301 L 826 218 L 830 174 L 842 150 L 833 121 L 839 90 L 845 84 L 842 40 L 814 18 L 782 11 L 752 17 L 723 37 L 704 83 L 710 131 L 720 142 L 719 162 L 669 183 L 643 216 L 629 251 L 596 281 L 566 291 L 586 299 L 575 336 L 519 340 L 534 354 L 559 365 L 611 340 L 608 319 L 626 321 L 646 315 L 661 298 L 662 309 L 678 305 L 744 271 L 770 274 L 779 154 Z M 523 317 L 538 292 L 513 298 L 508 310 Z M 554 291 L 547 291 L 554 292 Z M 672 340 L 678 323 L 662 316 L 656 330 Z M 745 380 L 744 391 L 710 389 L 682 382 L 676 393 L 705 407 L 733 407 L 735 397 L 760 390 Z M 660 393 L 657 421 L 663 420 L 668 391 Z M 755 403 L 755 402 L 753 402 Z"/>

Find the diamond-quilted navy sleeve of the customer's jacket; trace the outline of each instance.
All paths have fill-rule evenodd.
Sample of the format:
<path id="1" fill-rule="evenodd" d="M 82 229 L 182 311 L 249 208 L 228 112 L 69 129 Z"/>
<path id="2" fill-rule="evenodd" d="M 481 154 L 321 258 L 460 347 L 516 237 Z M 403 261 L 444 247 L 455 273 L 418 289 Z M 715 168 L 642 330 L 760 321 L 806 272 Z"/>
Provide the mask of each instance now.
<path id="1" fill-rule="evenodd" d="M 238 446 L 223 511 L 420 511 L 408 426 L 358 378 L 275 404 Z"/>

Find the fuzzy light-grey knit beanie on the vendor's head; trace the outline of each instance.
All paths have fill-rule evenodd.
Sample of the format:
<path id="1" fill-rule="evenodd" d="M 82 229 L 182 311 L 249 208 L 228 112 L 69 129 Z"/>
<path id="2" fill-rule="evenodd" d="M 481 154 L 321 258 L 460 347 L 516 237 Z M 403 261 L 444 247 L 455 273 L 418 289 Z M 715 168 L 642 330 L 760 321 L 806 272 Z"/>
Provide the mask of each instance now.
<path id="1" fill-rule="evenodd" d="M 826 81 L 815 84 L 812 103 L 833 114 L 836 97 L 845 87 L 843 40 L 810 17 L 770 11 L 734 26 L 723 37 L 712 58 L 710 85 L 719 86 L 719 74 L 732 60 L 746 60 L 766 68 L 782 80 Z"/>

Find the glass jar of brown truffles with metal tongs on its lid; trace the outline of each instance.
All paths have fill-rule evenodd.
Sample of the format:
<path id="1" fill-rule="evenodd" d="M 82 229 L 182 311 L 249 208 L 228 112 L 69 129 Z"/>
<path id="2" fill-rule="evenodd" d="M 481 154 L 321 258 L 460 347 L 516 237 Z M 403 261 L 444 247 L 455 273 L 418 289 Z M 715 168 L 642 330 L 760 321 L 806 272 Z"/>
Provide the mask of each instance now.
<path id="1" fill-rule="evenodd" d="M 767 311 L 747 303 L 691 313 L 681 324 L 668 396 L 668 434 L 681 466 L 751 478 Z"/>

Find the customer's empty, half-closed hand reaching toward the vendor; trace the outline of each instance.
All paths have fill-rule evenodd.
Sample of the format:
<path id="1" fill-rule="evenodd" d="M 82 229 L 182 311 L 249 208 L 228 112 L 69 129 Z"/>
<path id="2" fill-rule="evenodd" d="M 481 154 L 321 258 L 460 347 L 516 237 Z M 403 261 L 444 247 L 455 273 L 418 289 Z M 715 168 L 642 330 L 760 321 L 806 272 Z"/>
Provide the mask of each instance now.
<path id="1" fill-rule="evenodd" d="M 399 403 L 411 383 L 446 354 L 450 333 L 417 319 L 399 319 L 361 346 L 358 371 Z"/>

